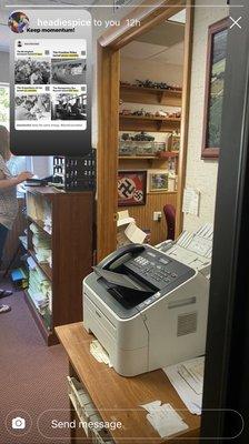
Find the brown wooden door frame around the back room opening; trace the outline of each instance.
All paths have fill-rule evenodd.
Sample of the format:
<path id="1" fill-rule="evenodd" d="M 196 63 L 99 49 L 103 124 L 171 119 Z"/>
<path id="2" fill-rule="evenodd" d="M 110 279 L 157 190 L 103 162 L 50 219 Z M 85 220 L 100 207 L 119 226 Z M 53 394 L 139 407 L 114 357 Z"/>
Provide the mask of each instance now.
<path id="1" fill-rule="evenodd" d="M 148 6 L 147 6 L 148 4 Z M 192 29 L 195 0 L 147 0 L 135 8 L 121 24 L 108 30 L 98 46 L 98 145 L 97 145 L 97 260 L 117 249 L 118 211 L 118 132 L 120 49 L 138 36 L 149 31 L 186 8 L 183 83 L 181 104 L 181 148 L 178 168 L 176 233 L 182 230 L 182 199 L 186 182 L 186 163 L 189 125 L 189 95 L 191 77 Z M 129 27 L 127 20 L 137 19 L 139 27 Z"/>

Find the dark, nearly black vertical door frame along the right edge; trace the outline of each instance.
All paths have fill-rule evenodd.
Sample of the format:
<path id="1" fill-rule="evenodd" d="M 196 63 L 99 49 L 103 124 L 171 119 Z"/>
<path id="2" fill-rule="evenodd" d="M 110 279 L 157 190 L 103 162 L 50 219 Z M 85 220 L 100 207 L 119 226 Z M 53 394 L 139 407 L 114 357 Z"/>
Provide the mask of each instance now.
<path id="1" fill-rule="evenodd" d="M 236 8 L 238 0 L 229 2 L 230 14 L 248 23 L 248 0 L 239 3 L 242 9 Z M 242 422 L 235 411 L 243 417 L 243 430 L 233 441 L 248 442 L 248 27 L 228 32 L 200 435 L 209 443 L 239 433 Z"/>

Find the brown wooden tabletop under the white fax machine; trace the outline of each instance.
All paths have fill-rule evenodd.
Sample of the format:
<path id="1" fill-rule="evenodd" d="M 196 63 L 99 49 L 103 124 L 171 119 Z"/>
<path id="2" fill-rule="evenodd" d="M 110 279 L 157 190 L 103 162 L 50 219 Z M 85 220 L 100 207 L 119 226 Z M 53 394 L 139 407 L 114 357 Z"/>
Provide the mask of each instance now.
<path id="1" fill-rule="evenodd" d="M 101 418 L 107 422 L 120 421 L 122 428 L 110 431 L 114 443 L 159 444 L 199 442 L 200 417 L 192 415 L 185 406 L 162 370 L 133 377 L 120 376 L 113 369 L 99 363 L 90 354 L 93 339 L 81 322 L 56 327 L 70 364 L 70 376 L 83 384 Z M 188 424 L 188 431 L 170 438 L 160 438 L 146 418 L 147 412 L 140 407 L 156 400 L 170 403 Z M 76 418 L 72 412 L 71 420 Z M 81 437 L 81 438 L 80 438 Z M 178 438 L 179 437 L 179 438 Z M 82 428 L 71 431 L 71 442 L 86 443 Z M 196 440 L 195 440 L 196 438 Z M 88 442 L 91 442 L 88 441 Z"/>

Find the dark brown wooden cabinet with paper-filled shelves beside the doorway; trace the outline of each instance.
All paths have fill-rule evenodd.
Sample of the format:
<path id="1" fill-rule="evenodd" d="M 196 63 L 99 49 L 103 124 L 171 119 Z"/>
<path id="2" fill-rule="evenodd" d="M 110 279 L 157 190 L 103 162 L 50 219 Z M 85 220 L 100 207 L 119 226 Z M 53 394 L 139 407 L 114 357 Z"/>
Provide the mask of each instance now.
<path id="1" fill-rule="evenodd" d="M 26 297 L 48 345 L 58 342 L 54 326 L 82 320 L 82 280 L 92 265 L 92 201 L 91 192 L 64 193 L 52 188 L 27 191 L 28 252 L 51 294 L 41 310 L 29 282 Z M 49 261 L 40 258 L 37 239 L 51 249 Z M 29 281 L 37 279 L 31 273 Z"/>

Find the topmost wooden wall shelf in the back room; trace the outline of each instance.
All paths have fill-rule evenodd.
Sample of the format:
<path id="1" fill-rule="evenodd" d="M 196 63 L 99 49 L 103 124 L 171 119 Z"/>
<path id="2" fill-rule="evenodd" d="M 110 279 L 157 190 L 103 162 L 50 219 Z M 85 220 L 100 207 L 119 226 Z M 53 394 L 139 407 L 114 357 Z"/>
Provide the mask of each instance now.
<path id="1" fill-rule="evenodd" d="M 120 85 L 120 99 L 130 103 L 162 104 L 181 107 L 181 91 L 142 88 L 137 85 Z"/>

